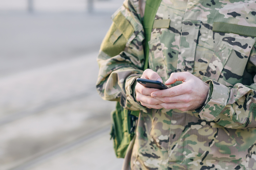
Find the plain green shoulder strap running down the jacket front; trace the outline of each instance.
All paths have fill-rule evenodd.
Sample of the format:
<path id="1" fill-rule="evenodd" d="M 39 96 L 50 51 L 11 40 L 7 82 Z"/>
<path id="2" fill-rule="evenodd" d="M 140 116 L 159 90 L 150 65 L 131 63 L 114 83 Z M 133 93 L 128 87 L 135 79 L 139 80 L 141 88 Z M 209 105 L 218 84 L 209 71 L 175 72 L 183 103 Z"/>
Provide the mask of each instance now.
<path id="1" fill-rule="evenodd" d="M 151 32 L 154 24 L 154 18 L 157 14 L 157 9 L 160 5 L 162 0 L 147 0 L 146 1 L 146 7 L 145 7 L 145 13 L 144 13 L 144 21 L 143 21 L 143 27 L 145 31 L 145 45 L 144 45 L 144 55 L 145 55 L 145 64 L 144 64 L 144 70 L 148 68 L 148 53 L 149 53 L 149 46 L 148 41 L 151 37 Z"/>

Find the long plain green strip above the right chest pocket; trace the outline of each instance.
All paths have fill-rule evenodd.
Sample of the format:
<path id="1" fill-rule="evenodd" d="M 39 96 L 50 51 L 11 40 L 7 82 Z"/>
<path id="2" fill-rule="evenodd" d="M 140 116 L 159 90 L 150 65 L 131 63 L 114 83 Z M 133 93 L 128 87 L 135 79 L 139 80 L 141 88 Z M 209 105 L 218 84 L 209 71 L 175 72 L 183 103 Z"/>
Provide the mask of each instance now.
<path id="1" fill-rule="evenodd" d="M 220 23 L 220 22 L 213 23 L 212 31 L 236 33 L 239 35 L 253 36 L 253 37 L 256 36 L 256 27 L 247 27 L 243 25 L 227 24 L 227 23 Z"/>

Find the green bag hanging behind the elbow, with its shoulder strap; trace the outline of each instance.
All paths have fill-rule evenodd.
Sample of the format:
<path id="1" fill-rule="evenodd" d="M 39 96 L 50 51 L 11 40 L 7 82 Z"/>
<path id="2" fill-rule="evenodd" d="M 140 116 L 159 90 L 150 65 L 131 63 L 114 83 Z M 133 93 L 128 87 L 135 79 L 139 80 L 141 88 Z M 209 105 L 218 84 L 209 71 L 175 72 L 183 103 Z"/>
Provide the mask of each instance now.
<path id="1" fill-rule="evenodd" d="M 145 64 L 144 70 L 148 68 L 148 54 L 149 46 L 148 41 L 151 37 L 151 30 L 154 23 L 154 18 L 157 9 L 162 0 L 147 0 L 144 13 L 143 28 L 145 32 Z M 116 104 L 116 110 L 111 112 L 112 128 L 111 138 L 114 140 L 114 150 L 117 158 L 124 158 L 126 150 L 132 138 L 135 136 L 136 120 L 138 119 L 139 111 L 131 111 L 123 108 L 119 102 Z"/>

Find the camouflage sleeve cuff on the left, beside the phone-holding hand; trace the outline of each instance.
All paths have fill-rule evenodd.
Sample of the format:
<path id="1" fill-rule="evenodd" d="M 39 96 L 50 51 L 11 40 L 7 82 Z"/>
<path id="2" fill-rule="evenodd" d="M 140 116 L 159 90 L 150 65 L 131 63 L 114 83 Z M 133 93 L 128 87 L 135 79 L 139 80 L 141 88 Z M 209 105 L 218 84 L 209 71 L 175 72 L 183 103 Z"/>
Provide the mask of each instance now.
<path id="1" fill-rule="evenodd" d="M 140 78 L 141 75 L 136 75 L 132 76 L 126 79 L 125 82 L 125 92 L 126 92 L 126 97 L 127 97 L 127 102 L 126 102 L 126 109 L 129 110 L 142 110 L 143 112 L 147 112 L 146 108 L 142 106 L 135 97 L 135 86 L 136 86 L 136 78 Z"/>

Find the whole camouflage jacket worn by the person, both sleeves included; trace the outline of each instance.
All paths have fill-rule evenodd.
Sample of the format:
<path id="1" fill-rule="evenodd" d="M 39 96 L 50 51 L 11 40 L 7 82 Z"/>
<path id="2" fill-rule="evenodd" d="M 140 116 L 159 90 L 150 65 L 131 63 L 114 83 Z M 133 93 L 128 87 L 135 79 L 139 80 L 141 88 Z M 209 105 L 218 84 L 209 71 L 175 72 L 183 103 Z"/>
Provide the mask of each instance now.
<path id="1" fill-rule="evenodd" d="M 162 0 L 148 42 L 145 3 L 124 1 L 97 59 L 101 97 L 141 110 L 131 169 L 256 169 L 256 0 Z M 189 71 L 209 84 L 203 108 L 155 110 L 136 101 L 144 43 L 163 82 Z"/>

